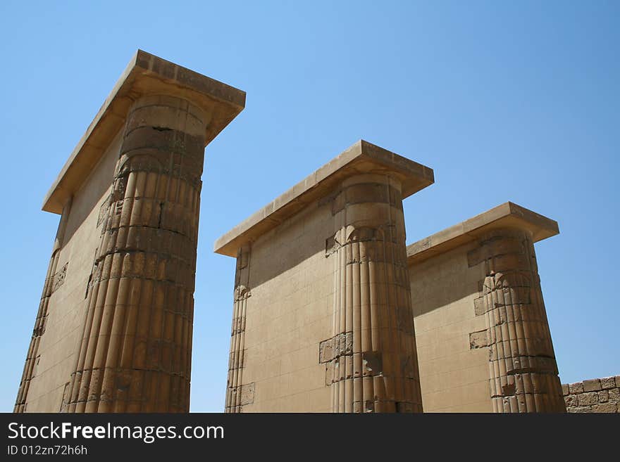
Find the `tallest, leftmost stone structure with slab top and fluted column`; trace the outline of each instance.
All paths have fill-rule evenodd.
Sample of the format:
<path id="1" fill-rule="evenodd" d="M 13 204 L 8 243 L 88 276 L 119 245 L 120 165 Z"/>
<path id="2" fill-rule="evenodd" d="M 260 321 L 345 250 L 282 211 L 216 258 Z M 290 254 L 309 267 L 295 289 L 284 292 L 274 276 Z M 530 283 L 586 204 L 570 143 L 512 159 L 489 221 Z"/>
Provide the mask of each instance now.
<path id="1" fill-rule="evenodd" d="M 132 58 L 44 201 L 61 222 L 15 411 L 189 411 L 204 147 L 244 101 Z"/>

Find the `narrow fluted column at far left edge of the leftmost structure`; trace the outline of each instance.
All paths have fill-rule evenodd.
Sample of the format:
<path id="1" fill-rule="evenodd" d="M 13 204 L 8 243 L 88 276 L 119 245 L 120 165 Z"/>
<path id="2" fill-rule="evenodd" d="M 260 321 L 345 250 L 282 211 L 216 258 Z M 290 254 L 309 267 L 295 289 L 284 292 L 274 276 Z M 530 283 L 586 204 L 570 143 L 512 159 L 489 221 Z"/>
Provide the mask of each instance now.
<path id="1" fill-rule="evenodd" d="M 47 267 L 47 274 L 45 276 L 45 282 L 43 284 L 43 293 L 39 302 L 39 311 L 37 312 L 37 319 L 35 320 L 35 328 L 32 329 L 32 338 L 30 339 L 30 346 L 26 354 L 26 362 L 24 364 L 24 371 L 22 373 L 22 380 L 17 392 L 17 399 L 13 412 L 25 412 L 25 404 L 27 401 L 28 390 L 30 389 L 30 381 L 35 376 L 35 366 L 39 359 L 39 343 L 41 342 L 42 335 L 45 333 L 45 323 L 47 321 L 47 308 L 49 305 L 49 297 L 54 293 L 54 290 L 62 284 L 64 280 L 64 271 L 60 273 L 56 272 L 58 268 L 58 255 L 63 246 L 63 240 L 65 236 L 65 229 L 67 227 L 67 220 L 69 219 L 69 212 L 71 210 L 71 198 L 67 201 L 63 207 L 63 214 L 61 220 L 58 223 L 58 230 L 56 231 L 56 239 L 54 239 L 54 248 L 51 250 L 51 258 L 49 259 L 49 265 Z"/>

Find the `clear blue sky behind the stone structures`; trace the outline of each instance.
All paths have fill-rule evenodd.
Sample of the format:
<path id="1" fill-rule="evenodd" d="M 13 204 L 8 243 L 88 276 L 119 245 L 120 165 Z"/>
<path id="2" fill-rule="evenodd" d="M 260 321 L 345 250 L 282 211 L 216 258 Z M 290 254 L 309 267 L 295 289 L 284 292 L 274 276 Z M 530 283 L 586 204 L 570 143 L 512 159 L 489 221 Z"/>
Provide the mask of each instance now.
<path id="1" fill-rule="evenodd" d="M 247 91 L 206 148 L 192 411 L 223 409 L 235 262 L 213 241 L 363 138 L 435 169 L 408 242 L 512 200 L 538 243 L 563 382 L 620 374 L 617 1 L 2 1 L 0 411 L 58 215 L 51 182 L 140 48 Z"/>

